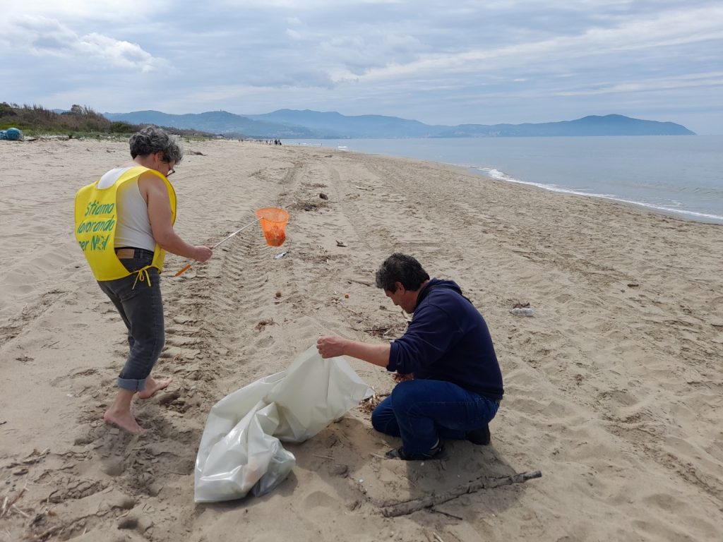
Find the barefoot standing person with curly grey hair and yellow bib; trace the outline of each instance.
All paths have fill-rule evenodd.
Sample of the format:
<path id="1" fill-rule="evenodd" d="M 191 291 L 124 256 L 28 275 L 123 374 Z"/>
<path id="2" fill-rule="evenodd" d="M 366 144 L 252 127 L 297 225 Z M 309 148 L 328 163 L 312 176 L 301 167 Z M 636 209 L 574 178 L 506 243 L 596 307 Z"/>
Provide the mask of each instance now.
<path id="1" fill-rule="evenodd" d="M 130 138 L 133 164 L 115 168 L 75 197 L 75 236 L 100 289 L 128 328 L 129 354 L 118 395 L 103 418 L 139 434 L 133 396 L 151 397 L 172 379 L 150 376 L 165 343 L 159 273 L 166 251 L 205 262 L 210 246 L 193 246 L 174 232 L 176 193 L 168 181 L 183 158 L 179 142 L 148 126 Z"/>

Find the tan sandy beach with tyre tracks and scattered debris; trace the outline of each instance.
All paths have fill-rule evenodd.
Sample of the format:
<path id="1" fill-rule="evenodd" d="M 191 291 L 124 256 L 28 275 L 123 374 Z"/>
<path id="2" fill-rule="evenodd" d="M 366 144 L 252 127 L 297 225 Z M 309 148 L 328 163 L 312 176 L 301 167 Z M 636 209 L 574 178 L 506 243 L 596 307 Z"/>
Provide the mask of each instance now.
<path id="1" fill-rule="evenodd" d="M 0 142 L 0 542 L 721 539 L 723 226 L 416 160 L 236 141 L 185 149 L 171 181 L 187 241 L 214 244 L 260 207 L 291 220 L 281 248 L 255 226 L 179 278 L 188 262 L 166 258 L 155 374 L 175 381 L 134 404 L 147 431 L 132 436 L 102 420 L 127 343 L 72 216 L 80 186 L 129 160 L 127 142 Z M 398 441 L 356 408 L 286 445 L 296 467 L 270 494 L 194 504 L 214 403 L 320 334 L 403 332 L 373 285 L 395 251 L 455 280 L 487 319 L 505 379 L 492 445 L 386 460 Z M 534 317 L 510 314 L 526 303 Z M 348 361 L 390 392 L 386 371 Z M 542 478 L 381 512 L 533 470 Z"/>

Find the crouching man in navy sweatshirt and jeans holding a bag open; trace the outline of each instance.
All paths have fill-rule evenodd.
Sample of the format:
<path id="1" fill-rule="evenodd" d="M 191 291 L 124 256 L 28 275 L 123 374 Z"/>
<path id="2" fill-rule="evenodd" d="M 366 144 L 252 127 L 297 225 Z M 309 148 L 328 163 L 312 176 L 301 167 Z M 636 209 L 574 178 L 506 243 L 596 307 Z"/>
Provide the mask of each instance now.
<path id="1" fill-rule="evenodd" d="M 351 356 L 395 371 L 398 384 L 372 412 L 377 431 L 401 436 L 386 456 L 401 460 L 440 457 L 442 439 L 489 444 L 502 374 L 482 314 L 452 280 L 429 278 L 406 254 L 392 254 L 376 275 L 377 288 L 414 314 L 404 335 L 390 344 L 320 337 L 322 358 Z"/>

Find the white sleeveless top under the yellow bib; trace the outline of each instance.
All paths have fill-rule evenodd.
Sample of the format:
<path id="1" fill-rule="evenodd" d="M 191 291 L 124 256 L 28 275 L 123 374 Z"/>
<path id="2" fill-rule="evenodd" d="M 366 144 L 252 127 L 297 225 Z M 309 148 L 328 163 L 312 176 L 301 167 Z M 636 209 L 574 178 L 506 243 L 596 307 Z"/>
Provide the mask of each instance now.
<path id="1" fill-rule="evenodd" d="M 98 181 L 98 188 L 112 186 L 122 173 L 130 168 L 115 168 Z M 116 225 L 115 246 L 132 246 L 137 249 L 155 250 L 155 239 L 150 229 L 148 204 L 138 189 L 138 179 L 120 186 L 116 193 L 118 224 Z"/>

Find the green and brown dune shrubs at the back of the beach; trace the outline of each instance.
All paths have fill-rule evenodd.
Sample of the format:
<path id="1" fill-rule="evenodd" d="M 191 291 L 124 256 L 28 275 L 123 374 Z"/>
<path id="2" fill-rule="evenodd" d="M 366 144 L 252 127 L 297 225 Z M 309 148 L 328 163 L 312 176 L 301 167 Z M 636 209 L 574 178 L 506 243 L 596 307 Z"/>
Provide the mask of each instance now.
<path id="1" fill-rule="evenodd" d="M 110 121 L 100 113 L 85 106 L 74 105 L 70 111 L 56 113 L 41 106 L 18 106 L 17 103 L 0 103 L 0 130 L 8 128 L 22 130 L 25 137 L 43 135 L 66 135 L 78 137 L 129 137 L 143 126 L 127 122 Z M 163 126 L 171 134 L 183 137 L 213 137 L 212 134 L 170 128 Z"/>

